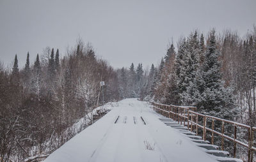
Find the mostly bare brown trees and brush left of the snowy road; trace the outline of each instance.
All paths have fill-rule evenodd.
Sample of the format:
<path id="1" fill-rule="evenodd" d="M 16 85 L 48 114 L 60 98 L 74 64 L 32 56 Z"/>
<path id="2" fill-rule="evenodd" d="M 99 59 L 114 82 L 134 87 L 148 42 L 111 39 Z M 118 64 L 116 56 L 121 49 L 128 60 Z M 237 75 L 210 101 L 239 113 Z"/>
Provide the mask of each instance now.
<path id="1" fill-rule="evenodd" d="M 17 55 L 12 70 L 2 64 L 0 161 L 47 156 L 76 135 L 77 129 L 86 128 L 88 114 L 102 103 L 101 80 L 106 83 L 104 100 L 118 100 L 116 71 L 81 41 L 62 58 L 58 49 L 48 47 L 34 63 L 28 53 L 22 69 Z M 86 119 L 79 128 L 72 127 L 81 118 Z"/>

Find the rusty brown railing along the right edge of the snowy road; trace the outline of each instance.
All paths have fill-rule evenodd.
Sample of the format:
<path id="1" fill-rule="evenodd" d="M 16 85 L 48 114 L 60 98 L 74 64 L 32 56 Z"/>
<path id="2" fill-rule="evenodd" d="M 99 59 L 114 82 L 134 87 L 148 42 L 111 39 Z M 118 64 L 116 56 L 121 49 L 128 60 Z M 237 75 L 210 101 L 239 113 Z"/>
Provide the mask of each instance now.
<path id="1" fill-rule="evenodd" d="M 237 152 L 237 144 L 246 147 L 248 150 L 248 162 L 253 161 L 253 153 L 256 151 L 256 147 L 253 146 L 254 134 L 256 132 L 256 127 L 248 126 L 246 124 L 241 124 L 234 121 L 228 121 L 225 119 L 220 119 L 218 117 L 214 117 L 211 115 L 200 114 L 196 112 L 196 107 L 189 106 L 177 106 L 177 105 L 164 105 L 161 103 L 151 103 L 153 105 L 154 110 L 164 115 L 165 117 L 172 118 L 174 121 L 179 122 L 179 124 L 183 124 L 184 126 L 188 126 L 190 131 L 195 131 L 196 135 L 198 135 L 198 129 L 202 130 L 202 138 L 206 140 L 207 133 L 211 133 L 211 144 L 214 144 L 214 134 L 221 136 L 221 150 L 224 150 L 224 139 L 230 140 L 234 143 L 234 152 L 233 156 L 236 158 Z M 211 126 L 207 127 L 207 123 L 211 123 Z M 221 123 L 221 132 L 214 129 L 215 123 Z M 201 124 L 202 123 L 202 124 Z M 234 135 L 227 135 L 227 130 L 225 130 L 225 125 L 229 124 L 234 129 Z M 242 142 L 241 140 L 237 140 L 237 128 L 242 128 L 247 130 L 247 143 Z"/>

